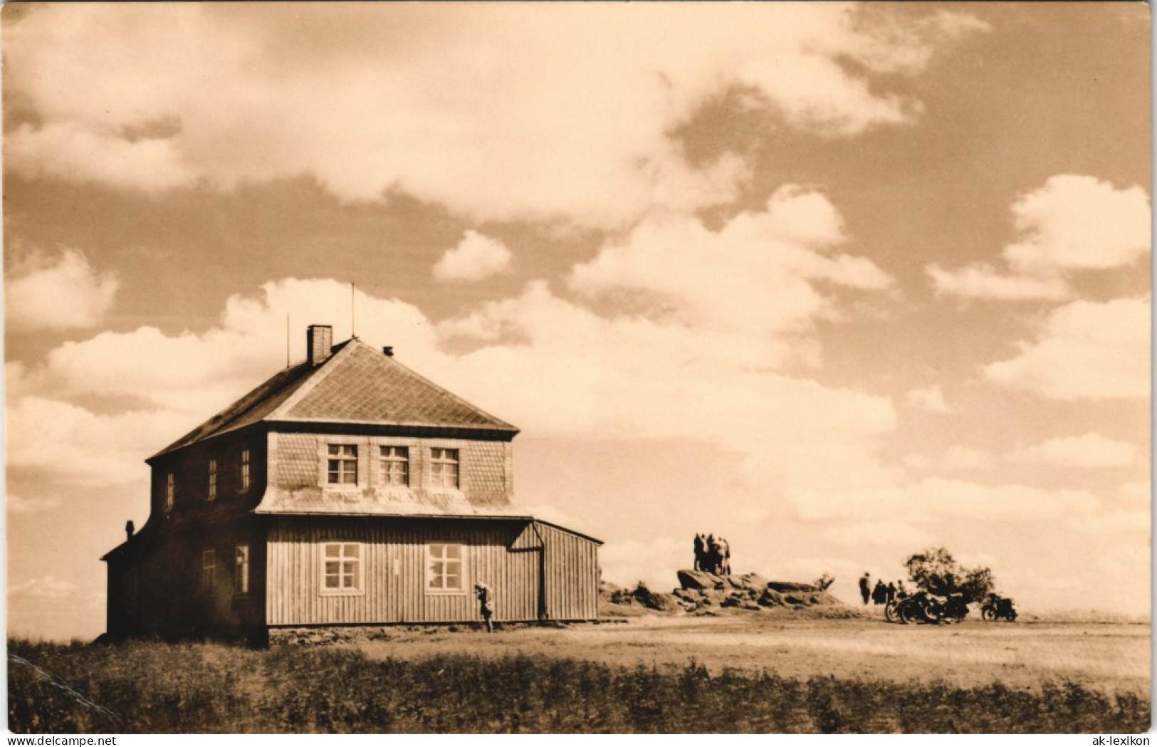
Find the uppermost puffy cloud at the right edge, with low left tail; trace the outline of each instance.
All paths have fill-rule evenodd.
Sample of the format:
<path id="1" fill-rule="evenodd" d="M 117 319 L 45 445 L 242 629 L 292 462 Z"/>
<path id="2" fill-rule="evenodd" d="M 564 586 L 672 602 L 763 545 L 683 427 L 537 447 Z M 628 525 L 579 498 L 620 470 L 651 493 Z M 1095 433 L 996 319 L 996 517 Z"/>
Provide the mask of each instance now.
<path id="1" fill-rule="evenodd" d="M 987 262 L 926 266 L 938 294 L 997 301 L 1060 301 L 1076 271 L 1132 265 L 1150 249 L 1149 197 L 1089 176 L 1056 175 L 1014 201 L 1018 239 L 1002 251 L 1008 271 Z"/>

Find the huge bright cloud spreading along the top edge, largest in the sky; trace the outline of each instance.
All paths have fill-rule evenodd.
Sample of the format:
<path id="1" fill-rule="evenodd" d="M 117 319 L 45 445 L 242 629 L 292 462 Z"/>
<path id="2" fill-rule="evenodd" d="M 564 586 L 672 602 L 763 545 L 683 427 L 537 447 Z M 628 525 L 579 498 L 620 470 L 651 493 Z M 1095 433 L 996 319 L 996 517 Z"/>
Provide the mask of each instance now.
<path id="1" fill-rule="evenodd" d="M 905 125 L 920 102 L 875 76 L 918 75 L 985 28 L 946 10 L 867 16 L 775 3 L 35 8 L 6 28 L 6 87 L 40 124 L 10 133 L 5 156 L 28 176 L 146 190 L 310 172 L 352 200 L 400 191 L 474 217 L 626 224 L 734 199 L 742 158 L 692 165 L 670 134 L 712 96 L 750 89 L 786 126 L 826 136 Z"/>

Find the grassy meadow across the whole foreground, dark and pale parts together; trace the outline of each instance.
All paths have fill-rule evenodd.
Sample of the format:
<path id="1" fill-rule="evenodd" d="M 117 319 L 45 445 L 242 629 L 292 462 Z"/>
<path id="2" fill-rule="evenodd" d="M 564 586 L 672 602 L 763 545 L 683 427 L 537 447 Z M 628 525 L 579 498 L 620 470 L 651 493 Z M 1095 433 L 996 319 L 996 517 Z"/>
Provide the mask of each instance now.
<path id="1" fill-rule="evenodd" d="M 703 639 L 713 622 L 714 645 Z M 17 733 L 1149 728 L 1148 672 L 1130 674 L 1129 668 L 1148 667 L 1147 626 L 1144 636 L 1090 636 L 1086 629 L 1031 635 L 1030 626 L 985 623 L 953 626 L 957 630 L 882 628 L 886 623 L 875 621 L 848 630 L 847 624 L 700 620 L 493 636 L 399 630 L 386 641 L 267 650 L 9 639 L 8 726 Z M 1019 659 L 1012 651 L 1018 636 Z M 953 637 L 959 649 L 955 659 Z M 1134 664 L 1142 637 L 1145 659 Z M 885 650 L 889 639 L 896 642 L 893 650 Z M 914 653 L 893 661 L 894 649 Z M 1129 659 L 1115 673 L 1105 665 L 1114 652 L 1122 663 Z M 732 656 L 742 657 L 743 665 Z M 1061 666 L 1033 668 L 1029 659 Z M 938 666 L 939 660 L 946 666 Z M 1098 661 L 1100 668 L 1092 666 Z M 1004 668 L 1005 663 L 1011 666 Z"/>

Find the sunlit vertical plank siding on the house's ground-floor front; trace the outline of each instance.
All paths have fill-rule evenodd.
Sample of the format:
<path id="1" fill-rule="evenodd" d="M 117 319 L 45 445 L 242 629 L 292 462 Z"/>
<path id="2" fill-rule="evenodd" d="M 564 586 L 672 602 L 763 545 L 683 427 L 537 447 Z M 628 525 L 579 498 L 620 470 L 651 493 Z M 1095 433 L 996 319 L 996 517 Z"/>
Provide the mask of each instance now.
<path id="1" fill-rule="evenodd" d="M 271 626 L 465 622 L 480 620 L 476 583 L 493 591 L 499 621 L 539 616 L 539 589 L 559 613 L 553 619 L 597 615 L 597 546 L 550 530 L 558 547 L 526 541 L 525 522 L 471 519 L 277 517 L 268 528 L 266 623 Z M 535 528 L 541 534 L 541 525 Z M 550 528 L 550 527 L 546 527 Z M 522 538 L 522 539 L 519 539 Z M 356 594 L 322 590 L 322 545 L 361 542 L 362 587 Z M 462 592 L 429 592 L 426 553 L 430 542 L 463 545 Z M 544 557 L 543 553 L 546 553 Z M 573 569 L 554 568 L 553 563 Z M 543 560 L 545 562 L 543 562 Z M 551 578 L 558 578 L 552 584 Z"/>

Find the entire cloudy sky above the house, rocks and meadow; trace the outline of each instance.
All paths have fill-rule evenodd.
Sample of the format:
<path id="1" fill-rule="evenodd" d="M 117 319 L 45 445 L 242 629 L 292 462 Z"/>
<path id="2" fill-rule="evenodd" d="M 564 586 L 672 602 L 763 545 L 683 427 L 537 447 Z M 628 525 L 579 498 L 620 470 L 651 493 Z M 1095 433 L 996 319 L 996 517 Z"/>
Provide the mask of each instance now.
<path id="1" fill-rule="evenodd" d="M 6 5 L 9 630 L 308 324 L 522 429 L 604 577 L 944 546 L 1150 607 L 1141 3 Z"/>

